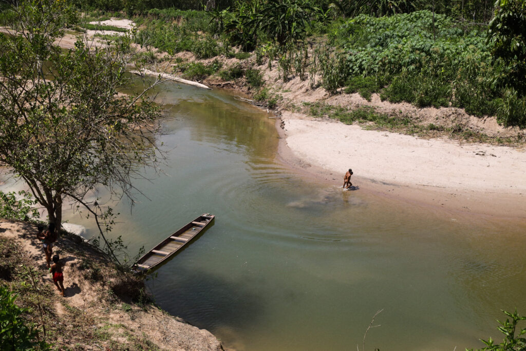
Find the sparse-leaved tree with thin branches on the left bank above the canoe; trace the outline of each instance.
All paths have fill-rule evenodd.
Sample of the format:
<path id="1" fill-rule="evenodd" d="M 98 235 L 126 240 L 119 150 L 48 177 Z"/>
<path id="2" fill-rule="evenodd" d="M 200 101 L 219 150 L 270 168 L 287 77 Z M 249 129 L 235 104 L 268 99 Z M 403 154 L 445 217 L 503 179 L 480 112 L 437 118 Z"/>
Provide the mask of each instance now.
<path id="1" fill-rule="evenodd" d="M 130 83 L 130 36 L 99 48 L 80 39 L 66 52 L 54 46 L 77 20 L 66 1 L 24 0 L 13 11 L 15 33 L 0 38 L 0 163 L 58 230 L 66 197 L 88 209 L 84 198 L 99 187 L 133 198 L 139 167 L 159 156 L 159 109 L 145 97 L 159 81 L 118 94 Z"/>

